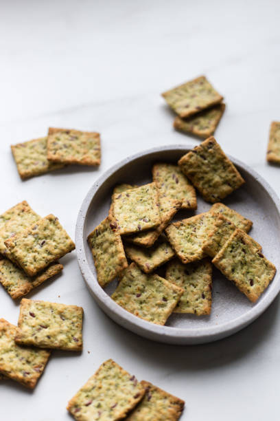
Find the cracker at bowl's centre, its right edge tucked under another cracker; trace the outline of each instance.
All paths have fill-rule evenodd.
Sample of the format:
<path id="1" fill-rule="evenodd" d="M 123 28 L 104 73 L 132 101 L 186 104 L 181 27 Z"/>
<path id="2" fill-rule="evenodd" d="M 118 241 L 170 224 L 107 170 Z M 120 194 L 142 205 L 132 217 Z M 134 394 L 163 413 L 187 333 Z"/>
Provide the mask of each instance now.
<path id="1" fill-rule="evenodd" d="M 205 212 L 167 226 L 165 233 L 183 263 L 200 260 L 206 256 L 202 246 L 213 229 L 214 221 L 215 216 Z"/>

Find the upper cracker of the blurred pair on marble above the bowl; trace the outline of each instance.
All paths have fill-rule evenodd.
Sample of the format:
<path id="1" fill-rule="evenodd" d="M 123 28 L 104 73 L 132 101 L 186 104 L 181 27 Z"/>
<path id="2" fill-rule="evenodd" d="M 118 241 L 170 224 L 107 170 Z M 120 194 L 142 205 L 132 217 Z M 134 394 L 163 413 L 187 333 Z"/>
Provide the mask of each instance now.
<path id="1" fill-rule="evenodd" d="M 205 76 L 163 92 L 162 96 L 181 118 L 189 117 L 223 100 Z"/>

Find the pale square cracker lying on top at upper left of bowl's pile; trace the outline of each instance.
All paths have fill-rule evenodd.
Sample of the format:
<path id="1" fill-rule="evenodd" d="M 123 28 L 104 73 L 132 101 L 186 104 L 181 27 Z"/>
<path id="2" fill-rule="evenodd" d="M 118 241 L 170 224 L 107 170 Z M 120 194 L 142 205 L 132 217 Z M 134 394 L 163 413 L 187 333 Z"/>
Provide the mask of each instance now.
<path id="1" fill-rule="evenodd" d="M 145 184 L 113 195 L 113 216 L 121 235 L 159 226 L 161 217 L 156 184 Z"/>

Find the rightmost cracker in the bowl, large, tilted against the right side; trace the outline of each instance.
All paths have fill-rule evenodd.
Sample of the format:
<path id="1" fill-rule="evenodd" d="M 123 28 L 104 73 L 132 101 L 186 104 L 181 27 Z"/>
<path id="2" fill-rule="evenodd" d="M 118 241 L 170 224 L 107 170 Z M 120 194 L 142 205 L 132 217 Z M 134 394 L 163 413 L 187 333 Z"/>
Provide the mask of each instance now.
<path id="1" fill-rule="evenodd" d="M 252 240 L 237 228 L 212 263 L 254 303 L 275 277 L 276 268 Z"/>

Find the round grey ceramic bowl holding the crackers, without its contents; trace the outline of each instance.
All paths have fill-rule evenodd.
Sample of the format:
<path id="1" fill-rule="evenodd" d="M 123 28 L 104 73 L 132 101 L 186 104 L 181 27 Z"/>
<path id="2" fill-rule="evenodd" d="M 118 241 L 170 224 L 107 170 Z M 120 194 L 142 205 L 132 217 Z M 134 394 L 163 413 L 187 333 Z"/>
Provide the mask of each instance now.
<path id="1" fill-rule="evenodd" d="M 177 162 L 178 158 L 192 149 L 183 145 L 171 145 L 150 149 L 137 153 L 106 171 L 93 184 L 86 195 L 75 232 L 78 262 L 84 281 L 98 305 L 119 325 L 153 341 L 192 345 L 217 341 L 229 336 L 252 323 L 266 310 L 280 290 L 280 277 L 277 272 L 275 279 L 253 304 L 246 299 L 225 279 L 218 270 L 213 270 L 213 304 L 210 316 L 193 316 L 187 314 L 172 314 L 167 325 L 159 326 L 143 321 L 123 308 L 112 299 L 116 283 L 113 281 L 106 290 L 97 283 L 95 267 L 86 237 L 102 219 L 108 215 L 110 197 L 115 184 L 127 182 L 130 184 L 145 184 L 151 181 L 152 164 L 157 161 Z M 230 157 L 231 158 L 231 157 Z M 248 166 L 231 158 L 237 169 L 242 173 L 246 184 L 224 200 L 242 215 L 253 220 L 250 235 L 262 246 L 264 255 L 277 268 L 280 267 L 280 215 L 279 199 L 268 183 Z M 205 212 L 210 205 L 198 197 L 196 213 Z M 180 211 L 177 219 L 192 214 Z"/>

